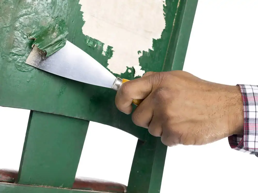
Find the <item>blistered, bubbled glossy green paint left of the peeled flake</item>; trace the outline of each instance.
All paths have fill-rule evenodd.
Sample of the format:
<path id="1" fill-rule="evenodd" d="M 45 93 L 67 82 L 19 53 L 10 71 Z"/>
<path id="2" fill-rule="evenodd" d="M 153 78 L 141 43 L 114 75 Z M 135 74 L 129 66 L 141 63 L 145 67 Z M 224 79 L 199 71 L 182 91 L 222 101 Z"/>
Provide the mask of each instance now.
<path id="1" fill-rule="evenodd" d="M 46 16 L 67 15 L 68 5 L 68 0 L 0 1 L 0 53 L 2 60 L 7 60 L 19 71 L 32 71 L 34 67 L 25 64 L 33 42 L 33 40 L 28 39 L 28 34 L 41 25 L 41 19 Z"/>

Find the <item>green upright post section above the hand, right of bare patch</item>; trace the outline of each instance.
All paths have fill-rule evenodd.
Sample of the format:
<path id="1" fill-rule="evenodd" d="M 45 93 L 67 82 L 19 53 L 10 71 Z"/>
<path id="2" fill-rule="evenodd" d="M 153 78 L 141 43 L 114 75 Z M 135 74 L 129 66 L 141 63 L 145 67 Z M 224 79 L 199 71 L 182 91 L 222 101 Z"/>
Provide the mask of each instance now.
<path id="1" fill-rule="evenodd" d="M 162 71 L 183 70 L 197 4 L 198 0 L 180 1 Z"/>

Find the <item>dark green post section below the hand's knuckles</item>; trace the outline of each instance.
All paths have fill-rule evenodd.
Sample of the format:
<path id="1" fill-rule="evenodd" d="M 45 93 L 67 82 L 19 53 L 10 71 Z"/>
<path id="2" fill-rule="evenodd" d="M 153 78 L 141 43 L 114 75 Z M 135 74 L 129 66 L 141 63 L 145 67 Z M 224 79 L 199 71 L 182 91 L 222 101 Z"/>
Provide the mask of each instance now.
<path id="1" fill-rule="evenodd" d="M 145 142 L 138 140 L 131 173 L 128 193 L 158 193 L 163 176 L 167 146 L 160 137 L 147 134 Z"/>

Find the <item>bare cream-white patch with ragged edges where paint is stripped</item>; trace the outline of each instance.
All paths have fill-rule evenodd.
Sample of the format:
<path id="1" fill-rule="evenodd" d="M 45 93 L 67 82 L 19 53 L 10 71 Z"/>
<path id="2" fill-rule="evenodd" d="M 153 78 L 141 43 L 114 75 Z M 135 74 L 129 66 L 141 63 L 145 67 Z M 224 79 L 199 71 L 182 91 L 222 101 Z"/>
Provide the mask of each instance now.
<path id="1" fill-rule="evenodd" d="M 127 67 L 139 66 L 142 51 L 153 50 L 152 39 L 159 39 L 166 26 L 165 0 L 80 0 L 79 3 L 85 21 L 83 33 L 113 47 L 107 67 L 116 74 L 126 72 Z M 136 69 L 135 74 L 136 71 L 142 74 L 141 68 Z"/>

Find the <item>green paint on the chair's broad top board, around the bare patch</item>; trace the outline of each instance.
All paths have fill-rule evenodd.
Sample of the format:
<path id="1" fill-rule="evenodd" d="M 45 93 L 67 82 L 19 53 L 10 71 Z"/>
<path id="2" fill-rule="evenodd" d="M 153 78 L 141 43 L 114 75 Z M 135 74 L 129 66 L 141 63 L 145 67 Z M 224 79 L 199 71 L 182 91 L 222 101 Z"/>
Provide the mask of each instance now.
<path id="1" fill-rule="evenodd" d="M 162 71 L 164 66 L 172 68 L 172 63 L 165 58 L 173 49 L 168 48 L 169 43 L 177 38 L 176 33 L 172 33 L 177 6 L 178 0 L 166 1 L 163 5 L 166 25 L 161 37 L 152 39 L 153 49 L 136 52 L 137 61 L 145 72 Z M 0 106 L 100 122 L 144 139 L 146 129 L 135 126 L 131 116 L 117 110 L 116 93 L 112 90 L 67 80 L 25 64 L 33 44 L 27 34 L 38 27 L 45 16 L 62 16 L 68 27 L 67 40 L 104 67 L 109 65 L 115 53 L 114 45 L 83 34 L 86 22 L 79 0 L 0 0 Z M 113 74 L 131 80 L 135 69 L 127 67 L 125 73 Z"/>

